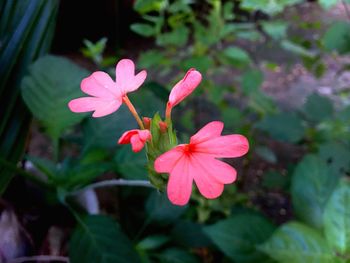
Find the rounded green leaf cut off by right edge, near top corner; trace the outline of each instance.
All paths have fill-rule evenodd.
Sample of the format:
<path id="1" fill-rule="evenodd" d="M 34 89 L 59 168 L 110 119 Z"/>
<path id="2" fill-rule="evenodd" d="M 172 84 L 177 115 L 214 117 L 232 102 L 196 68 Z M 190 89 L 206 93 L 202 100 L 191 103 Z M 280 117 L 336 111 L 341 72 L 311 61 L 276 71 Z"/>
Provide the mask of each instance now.
<path id="1" fill-rule="evenodd" d="M 350 51 L 350 23 L 339 21 L 333 23 L 322 38 L 327 51 L 337 51 L 345 54 Z"/>

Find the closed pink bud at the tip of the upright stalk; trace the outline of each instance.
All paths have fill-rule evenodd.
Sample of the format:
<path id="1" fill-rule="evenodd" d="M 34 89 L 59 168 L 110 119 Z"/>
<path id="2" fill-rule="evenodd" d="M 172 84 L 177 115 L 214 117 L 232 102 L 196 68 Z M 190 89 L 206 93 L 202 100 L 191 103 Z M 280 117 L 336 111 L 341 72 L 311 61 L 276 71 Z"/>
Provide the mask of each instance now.
<path id="1" fill-rule="evenodd" d="M 185 77 L 180 80 L 171 90 L 169 105 L 174 107 L 184 98 L 190 95 L 202 80 L 202 75 L 195 69 L 187 71 Z"/>

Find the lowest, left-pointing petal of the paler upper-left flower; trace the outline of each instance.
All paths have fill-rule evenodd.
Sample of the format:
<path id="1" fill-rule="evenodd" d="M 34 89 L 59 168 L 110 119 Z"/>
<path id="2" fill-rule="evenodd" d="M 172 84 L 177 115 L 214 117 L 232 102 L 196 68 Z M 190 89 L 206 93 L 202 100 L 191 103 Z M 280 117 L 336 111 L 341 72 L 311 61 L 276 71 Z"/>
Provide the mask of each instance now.
<path id="1" fill-rule="evenodd" d="M 95 111 L 93 117 L 103 117 L 116 111 L 121 105 L 119 100 L 106 100 L 95 97 L 82 97 L 71 100 L 68 107 L 73 112 Z"/>

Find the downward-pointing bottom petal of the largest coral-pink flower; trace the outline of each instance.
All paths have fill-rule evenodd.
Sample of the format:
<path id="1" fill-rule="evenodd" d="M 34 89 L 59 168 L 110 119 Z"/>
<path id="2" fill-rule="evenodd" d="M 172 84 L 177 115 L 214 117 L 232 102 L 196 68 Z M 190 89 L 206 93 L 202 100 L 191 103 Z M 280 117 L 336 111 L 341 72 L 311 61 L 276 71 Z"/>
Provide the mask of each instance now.
<path id="1" fill-rule="evenodd" d="M 189 173 L 189 159 L 182 156 L 172 169 L 167 185 L 167 194 L 174 205 L 186 205 L 192 193 L 193 178 Z"/>

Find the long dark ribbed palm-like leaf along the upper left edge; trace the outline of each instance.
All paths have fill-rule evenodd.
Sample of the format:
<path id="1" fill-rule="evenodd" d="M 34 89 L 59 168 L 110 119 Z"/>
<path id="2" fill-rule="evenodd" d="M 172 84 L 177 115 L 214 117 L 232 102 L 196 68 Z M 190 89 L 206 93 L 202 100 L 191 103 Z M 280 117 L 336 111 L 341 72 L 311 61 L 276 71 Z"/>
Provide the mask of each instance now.
<path id="1" fill-rule="evenodd" d="M 47 52 L 57 9 L 57 0 L 1 1 L 0 158 L 13 163 L 23 154 L 30 123 L 20 82 L 28 65 Z M 13 173 L 1 166 L 0 174 L 1 194 Z"/>

